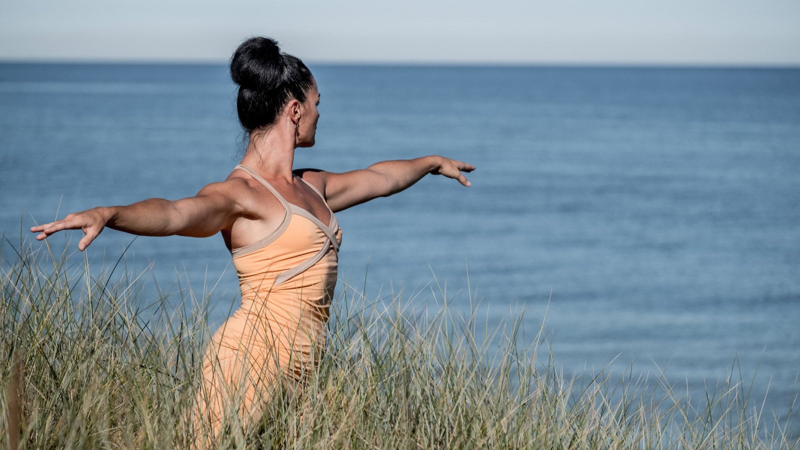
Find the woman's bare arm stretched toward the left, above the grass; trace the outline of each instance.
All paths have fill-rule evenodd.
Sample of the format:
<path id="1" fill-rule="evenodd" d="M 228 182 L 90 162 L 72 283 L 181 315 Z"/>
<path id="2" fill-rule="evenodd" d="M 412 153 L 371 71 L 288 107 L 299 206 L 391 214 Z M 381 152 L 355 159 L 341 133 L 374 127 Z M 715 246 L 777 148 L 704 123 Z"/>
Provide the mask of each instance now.
<path id="1" fill-rule="evenodd" d="M 31 227 L 36 239 L 46 239 L 62 230 L 83 230 L 78 242 L 83 251 L 105 227 L 134 235 L 184 235 L 207 237 L 230 227 L 242 214 L 234 195 L 241 179 L 230 179 L 203 187 L 198 195 L 175 201 L 146 199 L 124 207 L 94 207 L 67 215 L 64 219 Z"/>

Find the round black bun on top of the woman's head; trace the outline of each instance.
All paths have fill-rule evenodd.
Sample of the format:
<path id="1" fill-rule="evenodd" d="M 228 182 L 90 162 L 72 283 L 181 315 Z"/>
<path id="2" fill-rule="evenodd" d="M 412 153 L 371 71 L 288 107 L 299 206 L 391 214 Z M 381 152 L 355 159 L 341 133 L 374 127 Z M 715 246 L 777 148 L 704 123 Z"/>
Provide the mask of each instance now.
<path id="1" fill-rule="evenodd" d="M 230 78 L 244 88 L 270 89 L 281 80 L 283 57 L 272 38 L 249 38 L 230 59 Z"/>

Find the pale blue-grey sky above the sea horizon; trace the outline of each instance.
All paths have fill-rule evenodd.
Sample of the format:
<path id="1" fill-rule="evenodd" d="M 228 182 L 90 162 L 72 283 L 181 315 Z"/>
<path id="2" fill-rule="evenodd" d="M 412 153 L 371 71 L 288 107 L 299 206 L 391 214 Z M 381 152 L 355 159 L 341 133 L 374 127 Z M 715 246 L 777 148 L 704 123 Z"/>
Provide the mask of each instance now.
<path id="1" fill-rule="evenodd" d="M 800 0 L 2 0 L 0 59 L 800 65 Z"/>

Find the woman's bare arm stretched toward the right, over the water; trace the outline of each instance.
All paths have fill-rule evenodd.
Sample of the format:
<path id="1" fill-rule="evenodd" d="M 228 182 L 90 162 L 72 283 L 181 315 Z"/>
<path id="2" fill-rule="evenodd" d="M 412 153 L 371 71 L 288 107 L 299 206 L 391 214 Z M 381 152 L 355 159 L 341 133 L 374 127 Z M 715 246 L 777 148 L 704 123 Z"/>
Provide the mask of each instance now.
<path id="1" fill-rule="evenodd" d="M 382 161 L 360 171 L 342 174 L 313 172 L 309 174 L 309 178 L 317 178 L 322 184 L 330 209 L 342 211 L 377 197 L 403 191 L 428 174 L 444 175 L 457 179 L 464 186 L 470 186 L 462 172 L 471 172 L 474 169 L 471 164 L 432 155 L 417 159 Z"/>

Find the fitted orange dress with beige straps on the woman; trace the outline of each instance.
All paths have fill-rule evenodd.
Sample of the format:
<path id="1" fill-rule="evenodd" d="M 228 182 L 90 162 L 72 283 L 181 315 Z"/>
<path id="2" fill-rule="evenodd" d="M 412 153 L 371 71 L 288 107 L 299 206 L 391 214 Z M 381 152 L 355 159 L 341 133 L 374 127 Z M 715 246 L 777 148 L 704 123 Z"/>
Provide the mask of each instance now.
<path id="1" fill-rule="evenodd" d="M 286 215 L 278 230 L 231 251 L 242 306 L 211 338 L 198 390 L 198 418 L 211 424 L 214 436 L 230 412 L 244 424 L 257 420 L 278 383 L 302 389 L 325 348 L 342 243 L 333 211 L 326 225 L 249 167 L 236 168 L 269 189 Z"/>

